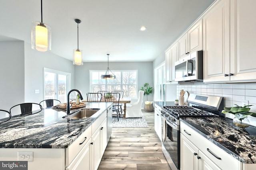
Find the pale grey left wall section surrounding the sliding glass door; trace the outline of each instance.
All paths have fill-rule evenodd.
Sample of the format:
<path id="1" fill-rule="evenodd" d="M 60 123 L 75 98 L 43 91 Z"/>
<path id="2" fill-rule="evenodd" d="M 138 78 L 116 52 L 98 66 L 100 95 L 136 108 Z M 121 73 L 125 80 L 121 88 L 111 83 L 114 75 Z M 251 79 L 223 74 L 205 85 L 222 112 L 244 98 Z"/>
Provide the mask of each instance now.
<path id="1" fill-rule="evenodd" d="M 75 66 L 72 61 L 51 52 L 33 50 L 30 43 L 25 43 L 25 102 L 39 103 L 44 100 L 44 67 L 71 73 L 70 89 L 75 88 Z M 35 94 L 35 90 L 39 90 L 39 93 Z"/>

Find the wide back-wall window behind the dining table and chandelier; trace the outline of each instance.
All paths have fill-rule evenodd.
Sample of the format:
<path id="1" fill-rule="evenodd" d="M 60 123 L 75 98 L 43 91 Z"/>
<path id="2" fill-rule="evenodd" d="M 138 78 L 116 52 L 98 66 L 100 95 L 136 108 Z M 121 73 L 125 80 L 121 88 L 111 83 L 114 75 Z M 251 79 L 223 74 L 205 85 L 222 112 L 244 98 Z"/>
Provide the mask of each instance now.
<path id="1" fill-rule="evenodd" d="M 115 79 L 101 79 L 103 70 L 90 70 L 90 92 L 123 90 L 124 97 L 138 98 L 138 70 L 112 71 Z"/>

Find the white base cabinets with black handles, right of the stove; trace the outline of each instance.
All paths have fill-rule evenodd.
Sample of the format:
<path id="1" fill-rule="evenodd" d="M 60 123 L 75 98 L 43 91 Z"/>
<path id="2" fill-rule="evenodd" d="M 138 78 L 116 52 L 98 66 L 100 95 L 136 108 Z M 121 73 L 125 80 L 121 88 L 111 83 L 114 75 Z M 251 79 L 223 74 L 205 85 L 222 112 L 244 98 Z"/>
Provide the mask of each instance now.
<path id="1" fill-rule="evenodd" d="M 181 170 L 242 170 L 242 162 L 182 121 L 180 121 L 180 133 Z"/>

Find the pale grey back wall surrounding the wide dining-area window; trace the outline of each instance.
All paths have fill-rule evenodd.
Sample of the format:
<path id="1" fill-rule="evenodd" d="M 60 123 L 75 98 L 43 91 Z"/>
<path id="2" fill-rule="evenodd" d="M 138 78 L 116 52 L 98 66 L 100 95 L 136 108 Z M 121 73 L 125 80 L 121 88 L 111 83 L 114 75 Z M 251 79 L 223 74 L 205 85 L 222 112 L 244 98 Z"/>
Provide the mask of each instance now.
<path id="1" fill-rule="evenodd" d="M 90 92 L 90 70 L 104 70 L 108 66 L 107 62 L 84 63 L 82 66 L 75 67 L 75 84 L 78 90 L 82 91 L 82 95 L 86 98 L 86 93 Z M 110 62 L 110 70 L 138 70 L 138 90 L 148 82 L 150 86 L 153 84 L 153 63 L 152 62 Z M 153 94 L 148 95 L 148 100 L 153 101 Z M 146 96 L 143 98 L 146 101 Z M 144 106 L 144 105 L 143 105 Z"/>

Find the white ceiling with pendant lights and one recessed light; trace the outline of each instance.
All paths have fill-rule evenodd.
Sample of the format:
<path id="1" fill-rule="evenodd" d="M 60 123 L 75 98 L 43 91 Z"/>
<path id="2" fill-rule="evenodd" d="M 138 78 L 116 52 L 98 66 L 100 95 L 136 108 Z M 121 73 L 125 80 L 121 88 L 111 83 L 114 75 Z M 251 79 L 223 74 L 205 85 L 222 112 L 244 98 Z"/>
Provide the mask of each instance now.
<path id="1" fill-rule="evenodd" d="M 52 53 L 84 62 L 154 61 L 214 0 L 43 0 L 43 22 L 52 28 Z M 0 41 L 31 42 L 41 20 L 40 0 L 1 0 Z M 144 25 L 146 31 L 139 31 Z M 38 52 L 43 53 L 43 52 Z"/>

